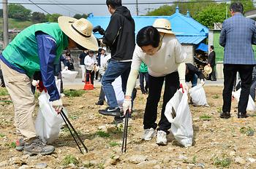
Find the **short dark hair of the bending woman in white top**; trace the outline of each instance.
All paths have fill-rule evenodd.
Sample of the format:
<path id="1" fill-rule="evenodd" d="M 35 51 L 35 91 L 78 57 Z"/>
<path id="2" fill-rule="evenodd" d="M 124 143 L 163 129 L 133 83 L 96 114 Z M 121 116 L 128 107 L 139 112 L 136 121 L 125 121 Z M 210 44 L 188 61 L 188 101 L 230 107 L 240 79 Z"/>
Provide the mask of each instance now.
<path id="1" fill-rule="evenodd" d="M 160 34 L 157 28 L 153 26 L 146 26 L 138 31 L 136 43 L 139 47 L 152 45 L 152 47 L 158 47 L 160 41 Z"/>

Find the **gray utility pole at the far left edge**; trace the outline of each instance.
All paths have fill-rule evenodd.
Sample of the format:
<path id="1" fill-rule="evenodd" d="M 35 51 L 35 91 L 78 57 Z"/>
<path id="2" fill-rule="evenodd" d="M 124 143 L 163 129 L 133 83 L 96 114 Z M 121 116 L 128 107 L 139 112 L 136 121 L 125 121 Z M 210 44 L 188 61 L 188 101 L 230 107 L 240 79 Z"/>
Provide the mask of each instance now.
<path id="1" fill-rule="evenodd" d="M 4 34 L 4 48 L 9 44 L 8 37 L 8 8 L 7 8 L 7 0 L 3 0 L 3 34 Z"/>

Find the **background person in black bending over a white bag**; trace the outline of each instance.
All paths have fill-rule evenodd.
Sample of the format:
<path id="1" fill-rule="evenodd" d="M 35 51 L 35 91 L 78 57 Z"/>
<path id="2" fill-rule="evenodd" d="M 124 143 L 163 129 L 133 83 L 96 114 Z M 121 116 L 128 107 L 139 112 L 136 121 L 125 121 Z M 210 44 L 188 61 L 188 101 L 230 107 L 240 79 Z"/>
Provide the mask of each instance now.
<path id="1" fill-rule="evenodd" d="M 186 82 L 190 82 L 192 84 L 192 87 L 195 87 L 197 85 L 197 77 L 199 77 L 201 84 L 205 84 L 202 71 L 200 71 L 198 68 L 193 66 L 191 63 L 186 63 Z"/>

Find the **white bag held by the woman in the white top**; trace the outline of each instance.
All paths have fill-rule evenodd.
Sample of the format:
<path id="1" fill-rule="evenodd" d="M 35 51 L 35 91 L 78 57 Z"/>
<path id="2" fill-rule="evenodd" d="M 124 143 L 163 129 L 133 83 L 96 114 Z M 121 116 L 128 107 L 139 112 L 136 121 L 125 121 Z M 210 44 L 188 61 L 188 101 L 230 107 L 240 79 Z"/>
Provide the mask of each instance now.
<path id="1" fill-rule="evenodd" d="M 174 138 L 183 146 L 192 146 L 192 117 L 187 102 L 187 92 L 178 90 L 165 107 L 165 117 L 171 123 L 170 130 Z"/>

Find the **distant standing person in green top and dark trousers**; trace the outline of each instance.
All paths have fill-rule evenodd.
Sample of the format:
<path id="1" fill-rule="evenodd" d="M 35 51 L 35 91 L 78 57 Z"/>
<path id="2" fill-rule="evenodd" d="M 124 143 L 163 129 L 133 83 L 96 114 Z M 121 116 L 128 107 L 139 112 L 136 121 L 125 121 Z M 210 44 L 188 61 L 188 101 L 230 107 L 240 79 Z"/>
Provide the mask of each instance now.
<path id="1" fill-rule="evenodd" d="M 148 66 L 145 63 L 140 64 L 140 90 L 141 93 L 148 94 Z M 146 81 L 146 86 L 144 87 L 144 77 Z"/>

